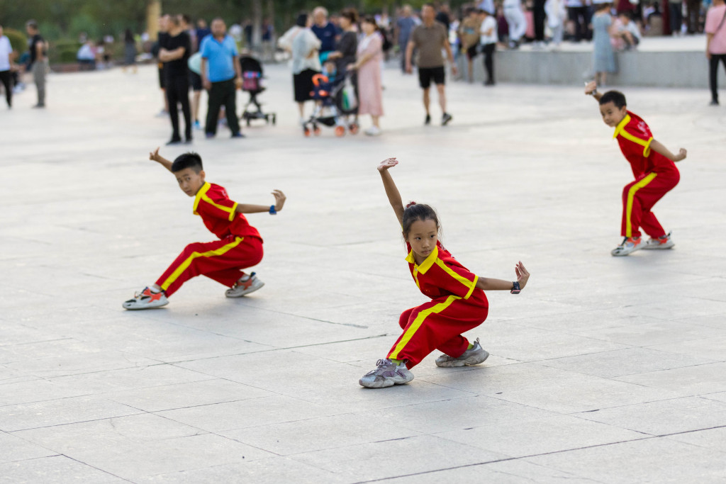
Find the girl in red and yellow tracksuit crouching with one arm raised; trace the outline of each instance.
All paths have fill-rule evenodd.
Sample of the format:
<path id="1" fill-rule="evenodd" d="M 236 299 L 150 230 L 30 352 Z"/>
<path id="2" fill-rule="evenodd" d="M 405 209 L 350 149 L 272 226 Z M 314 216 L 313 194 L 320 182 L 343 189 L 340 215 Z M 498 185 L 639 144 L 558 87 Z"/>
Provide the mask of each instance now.
<path id="1" fill-rule="evenodd" d="M 398 165 L 388 158 L 378 165 L 386 187 L 388 202 L 399 219 L 406 241 L 411 276 L 417 287 L 431 301 L 401 313 L 399 325 L 403 334 L 378 360 L 377 368 L 365 374 L 360 385 L 383 388 L 413 380 L 409 371 L 435 349 L 444 352 L 436 358 L 436 366 L 480 364 L 489 356 L 461 334 L 478 327 L 486 319 L 489 303 L 484 290 L 507 290 L 518 294 L 529 280 L 529 272 L 520 262 L 515 266 L 515 282 L 485 279 L 465 268 L 439 242 L 439 219 L 428 205 L 409 203 L 404 208 L 401 194 L 393 183 L 389 168 Z"/>

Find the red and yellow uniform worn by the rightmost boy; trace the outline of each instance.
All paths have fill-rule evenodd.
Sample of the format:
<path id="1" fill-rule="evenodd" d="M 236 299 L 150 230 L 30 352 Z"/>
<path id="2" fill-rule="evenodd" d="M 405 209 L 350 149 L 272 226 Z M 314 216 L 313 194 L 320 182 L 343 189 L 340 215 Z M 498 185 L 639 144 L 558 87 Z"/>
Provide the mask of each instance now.
<path id="1" fill-rule="evenodd" d="M 640 237 L 640 227 L 656 239 L 666 234 L 650 211 L 658 200 L 673 189 L 680 180 L 678 168 L 668 158 L 651 151 L 653 134 L 641 118 L 632 112 L 615 128 L 623 155 L 630 162 L 635 181 L 623 189 L 623 237 Z"/>

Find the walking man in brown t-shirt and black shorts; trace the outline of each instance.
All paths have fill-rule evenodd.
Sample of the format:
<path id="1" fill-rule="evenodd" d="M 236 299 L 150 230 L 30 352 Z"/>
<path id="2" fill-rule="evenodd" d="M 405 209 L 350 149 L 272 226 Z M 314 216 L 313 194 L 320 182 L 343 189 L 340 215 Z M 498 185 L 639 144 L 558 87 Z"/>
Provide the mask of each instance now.
<path id="1" fill-rule="evenodd" d="M 441 105 L 441 112 L 443 112 L 441 126 L 446 126 L 452 120 L 452 115 L 446 112 L 446 72 L 441 49 L 446 49 L 446 57 L 448 57 L 449 63 L 452 65 L 453 75 L 457 75 L 457 67 L 454 64 L 452 47 L 449 45 L 449 33 L 441 22 L 436 22 L 435 17 L 436 10 L 433 9 L 433 5 L 424 4 L 421 9 L 423 23 L 413 30 L 406 46 L 406 72 L 412 72 L 411 57 L 413 50 L 418 49 L 418 82 L 421 89 L 423 89 L 423 107 L 426 110 L 424 124 L 431 123 L 428 104 L 430 103 L 429 89 L 431 88 L 431 81 L 433 81 L 436 84 L 436 91 L 439 92 L 439 105 Z"/>

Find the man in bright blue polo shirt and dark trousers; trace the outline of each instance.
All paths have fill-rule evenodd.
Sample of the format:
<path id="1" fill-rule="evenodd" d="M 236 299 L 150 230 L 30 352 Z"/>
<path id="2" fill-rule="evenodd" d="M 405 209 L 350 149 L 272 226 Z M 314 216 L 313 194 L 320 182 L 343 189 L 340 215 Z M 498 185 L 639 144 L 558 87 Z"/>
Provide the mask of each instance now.
<path id="1" fill-rule="evenodd" d="M 205 134 L 208 138 L 216 135 L 219 108 L 224 105 L 232 138 L 243 138 L 240 121 L 237 120 L 237 88 L 242 86 L 240 57 L 234 38 L 227 35 L 224 20 L 219 17 L 212 20 L 212 35 L 204 38 L 200 52 L 202 85 L 209 93 Z"/>

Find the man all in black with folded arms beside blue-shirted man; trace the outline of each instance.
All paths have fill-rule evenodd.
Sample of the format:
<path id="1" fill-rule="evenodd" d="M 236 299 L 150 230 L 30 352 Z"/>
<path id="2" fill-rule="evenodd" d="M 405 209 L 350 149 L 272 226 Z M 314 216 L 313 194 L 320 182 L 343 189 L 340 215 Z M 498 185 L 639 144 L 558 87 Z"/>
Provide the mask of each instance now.
<path id="1" fill-rule="evenodd" d="M 167 144 L 181 143 L 179 135 L 179 110 L 184 113 L 184 136 L 187 143 L 192 142 L 192 113 L 189 108 L 189 52 L 192 50 L 189 35 L 181 27 L 179 15 L 169 20 L 168 36 L 160 44 L 159 60 L 164 63 L 164 84 L 166 85 L 166 100 L 169 104 L 169 118 L 171 118 L 171 140 Z"/>

